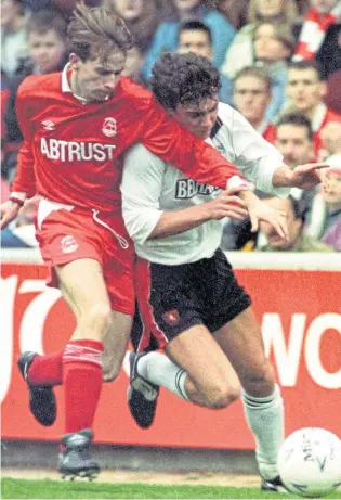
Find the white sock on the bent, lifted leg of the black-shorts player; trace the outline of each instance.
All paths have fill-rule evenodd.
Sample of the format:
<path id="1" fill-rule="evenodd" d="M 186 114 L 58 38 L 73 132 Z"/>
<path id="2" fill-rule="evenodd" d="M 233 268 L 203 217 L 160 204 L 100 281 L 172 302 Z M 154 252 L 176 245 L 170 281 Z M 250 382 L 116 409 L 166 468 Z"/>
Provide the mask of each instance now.
<path id="1" fill-rule="evenodd" d="M 166 387 L 181 399 L 188 401 L 185 390 L 187 373 L 167 356 L 160 352 L 148 352 L 139 359 L 137 372 L 152 384 Z"/>

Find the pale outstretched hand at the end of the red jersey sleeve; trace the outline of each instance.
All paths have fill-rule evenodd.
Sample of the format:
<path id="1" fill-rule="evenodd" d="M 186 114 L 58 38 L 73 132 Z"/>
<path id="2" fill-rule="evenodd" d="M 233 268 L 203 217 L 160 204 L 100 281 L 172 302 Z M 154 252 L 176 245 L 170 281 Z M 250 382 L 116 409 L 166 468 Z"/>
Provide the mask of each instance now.
<path id="1" fill-rule="evenodd" d="M 263 220 L 270 223 L 280 238 L 285 240 L 289 239 L 287 213 L 285 210 L 277 210 L 270 207 L 251 191 L 244 191 L 239 193 L 239 196 L 241 196 L 247 204 L 252 232 L 259 230 L 259 223 Z"/>

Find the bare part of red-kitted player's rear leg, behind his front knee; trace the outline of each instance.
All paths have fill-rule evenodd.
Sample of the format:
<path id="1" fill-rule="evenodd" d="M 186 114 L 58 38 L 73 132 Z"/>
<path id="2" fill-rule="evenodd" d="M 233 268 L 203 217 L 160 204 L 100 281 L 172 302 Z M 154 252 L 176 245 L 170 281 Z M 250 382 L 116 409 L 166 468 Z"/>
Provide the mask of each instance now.
<path id="1" fill-rule="evenodd" d="M 103 377 L 113 381 L 119 375 L 128 348 L 132 316 L 112 311 L 109 328 L 104 334 L 104 352 L 102 356 Z"/>

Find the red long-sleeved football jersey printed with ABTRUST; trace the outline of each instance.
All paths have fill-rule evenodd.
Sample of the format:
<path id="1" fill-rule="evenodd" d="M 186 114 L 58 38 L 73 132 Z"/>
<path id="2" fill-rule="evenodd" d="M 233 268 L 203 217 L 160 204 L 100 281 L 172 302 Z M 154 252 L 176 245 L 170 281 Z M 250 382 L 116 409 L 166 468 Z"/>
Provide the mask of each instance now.
<path id="1" fill-rule="evenodd" d="M 168 118 L 152 92 L 121 77 L 103 103 L 81 103 L 63 73 L 31 75 L 16 100 L 25 141 L 13 191 L 112 211 L 120 204 L 122 153 L 142 142 L 188 177 L 224 189 L 237 168 Z"/>

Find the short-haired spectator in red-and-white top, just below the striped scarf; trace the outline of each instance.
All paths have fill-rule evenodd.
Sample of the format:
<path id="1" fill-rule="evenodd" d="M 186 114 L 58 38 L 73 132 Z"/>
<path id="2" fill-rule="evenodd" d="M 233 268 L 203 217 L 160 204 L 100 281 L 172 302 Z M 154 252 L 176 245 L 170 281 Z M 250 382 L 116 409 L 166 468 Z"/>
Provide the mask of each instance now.
<path id="1" fill-rule="evenodd" d="M 341 115 L 328 110 L 324 103 L 326 91 L 326 82 L 322 80 L 319 66 L 315 61 L 290 63 L 286 87 L 290 102 L 286 112 L 303 113 L 311 120 L 314 132 L 314 155 L 317 161 L 326 157 L 320 130 L 329 121 L 341 121 Z"/>

